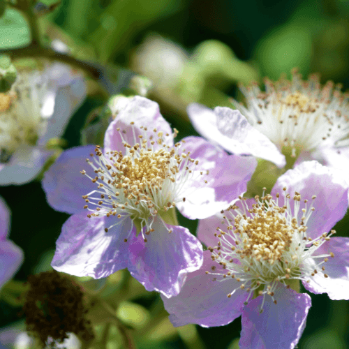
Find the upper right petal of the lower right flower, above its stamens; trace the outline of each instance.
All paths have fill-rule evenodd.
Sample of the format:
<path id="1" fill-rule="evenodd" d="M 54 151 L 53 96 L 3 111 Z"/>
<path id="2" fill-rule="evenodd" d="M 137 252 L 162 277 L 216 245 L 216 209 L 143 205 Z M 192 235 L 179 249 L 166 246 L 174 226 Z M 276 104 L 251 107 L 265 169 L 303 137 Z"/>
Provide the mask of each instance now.
<path id="1" fill-rule="evenodd" d="M 315 239 L 340 221 L 348 209 L 348 186 L 333 170 L 320 165 L 317 161 L 306 161 L 292 170 L 288 170 L 276 181 L 272 195 L 280 193 L 279 206 L 283 206 L 283 187 L 287 188 L 291 198 L 295 191 L 302 195 L 299 219 L 305 207 L 304 199 L 309 200 L 308 208 L 313 201 L 315 210 L 311 213 L 307 235 Z M 316 195 L 315 200 L 311 197 Z M 292 205 L 293 206 L 293 205 Z M 291 206 L 291 207 L 292 207 Z M 293 213 L 293 208 L 292 208 Z"/>

